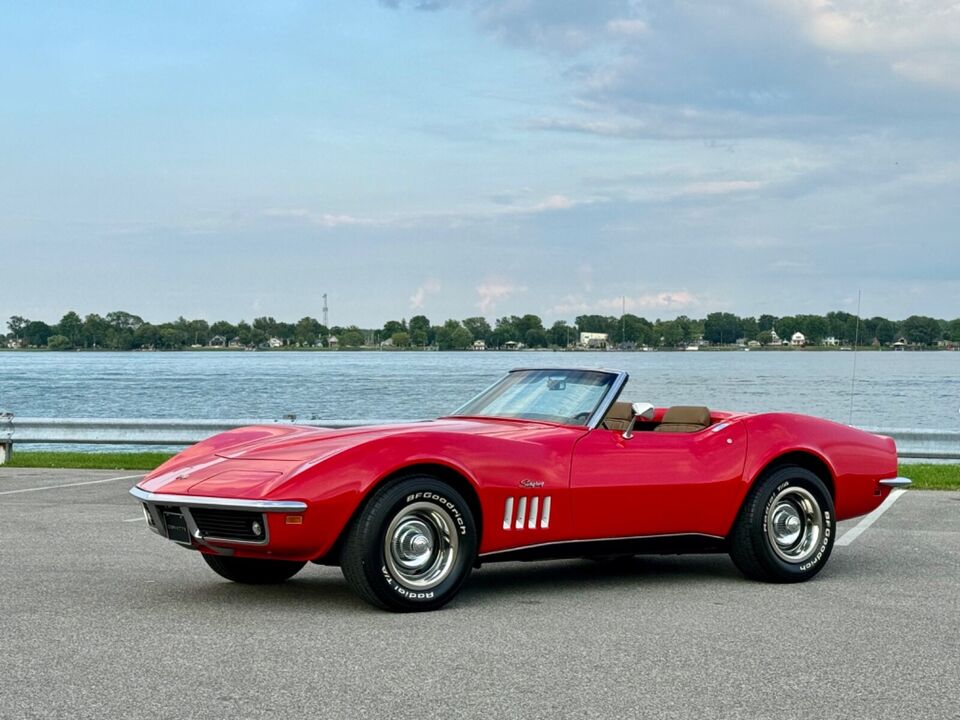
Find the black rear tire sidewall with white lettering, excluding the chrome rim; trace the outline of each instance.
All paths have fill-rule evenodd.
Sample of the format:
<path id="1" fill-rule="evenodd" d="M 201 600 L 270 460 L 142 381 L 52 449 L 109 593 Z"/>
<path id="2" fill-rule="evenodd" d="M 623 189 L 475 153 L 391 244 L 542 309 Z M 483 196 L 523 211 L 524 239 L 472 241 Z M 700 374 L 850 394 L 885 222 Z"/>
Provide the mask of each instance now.
<path id="1" fill-rule="evenodd" d="M 823 513 L 824 530 L 816 552 L 802 563 L 791 563 L 781 558 L 770 546 L 767 534 L 767 522 L 770 506 L 774 498 L 782 490 L 789 487 L 800 487 L 810 492 L 820 511 Z M 833 543 L 837 534 L 836 513 L 833 508 L 833 498 L 823 481 L 811 471 L 801 467 L 784 467 L 773 471 L 759 488 L 756 499 L 757 512 L 754 514 L 754 527 L 757 549 L 764 565 L 774 575 L 782 580 L 807 580 L 816 575 L 826 564 L 833 551 Z"/>

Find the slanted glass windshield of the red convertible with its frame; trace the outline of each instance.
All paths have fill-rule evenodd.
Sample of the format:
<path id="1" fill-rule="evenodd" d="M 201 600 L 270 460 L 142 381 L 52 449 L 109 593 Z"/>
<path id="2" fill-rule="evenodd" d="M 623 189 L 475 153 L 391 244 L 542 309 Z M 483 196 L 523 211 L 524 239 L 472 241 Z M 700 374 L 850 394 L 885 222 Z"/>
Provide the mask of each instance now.
<path id="1" fill-rule="evenodd" d="M 596 370 L 516 370 L 454 415 L 586 425 L 616 377 Z"/>

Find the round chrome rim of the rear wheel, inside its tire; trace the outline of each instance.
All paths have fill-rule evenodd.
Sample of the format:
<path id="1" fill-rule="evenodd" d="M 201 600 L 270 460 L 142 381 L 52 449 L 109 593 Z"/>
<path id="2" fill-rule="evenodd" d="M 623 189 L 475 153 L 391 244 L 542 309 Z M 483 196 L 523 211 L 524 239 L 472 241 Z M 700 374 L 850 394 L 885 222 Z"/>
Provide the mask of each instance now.
<path id="1" fill-rule="evenodd" d="M 817 551 L 823 537 L 823 510 L 806 488 L 790 486 L 767 503 L 767 543 L 785 562 L 808 560 Z"/>

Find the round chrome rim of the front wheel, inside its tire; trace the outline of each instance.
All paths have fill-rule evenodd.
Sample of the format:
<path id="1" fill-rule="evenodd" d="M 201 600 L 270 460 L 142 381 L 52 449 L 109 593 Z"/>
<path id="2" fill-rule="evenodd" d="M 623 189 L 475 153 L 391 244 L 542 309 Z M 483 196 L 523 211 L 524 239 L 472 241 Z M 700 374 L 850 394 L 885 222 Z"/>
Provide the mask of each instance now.
<path id="1" fill-rule="evenodd" d="M 453 517 L 432 502 L 404 507 L 390 521 L 383 537 L 387 569 L 409 590 L 429 590 L 446 580 L 459 549 Z"/>

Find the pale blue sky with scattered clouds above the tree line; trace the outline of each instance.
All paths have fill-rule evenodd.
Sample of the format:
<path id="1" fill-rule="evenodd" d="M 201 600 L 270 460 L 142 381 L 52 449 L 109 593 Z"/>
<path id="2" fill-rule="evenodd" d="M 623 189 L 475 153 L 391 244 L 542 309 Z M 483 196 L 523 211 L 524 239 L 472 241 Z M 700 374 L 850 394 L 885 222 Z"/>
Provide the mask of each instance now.
<path id="1" fill-rule="evenodd" d="M 0 316 L 960 316 L 960 6 L 4 2 Z"/>

